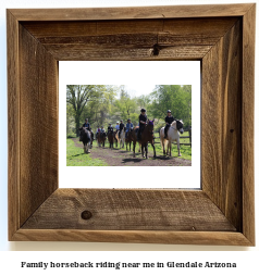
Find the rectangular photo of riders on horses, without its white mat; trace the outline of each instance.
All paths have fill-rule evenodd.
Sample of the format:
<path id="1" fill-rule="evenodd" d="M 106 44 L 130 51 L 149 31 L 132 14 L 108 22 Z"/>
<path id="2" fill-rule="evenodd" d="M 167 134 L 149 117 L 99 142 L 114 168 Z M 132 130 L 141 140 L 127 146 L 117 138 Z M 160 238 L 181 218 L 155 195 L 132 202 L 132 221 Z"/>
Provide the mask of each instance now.
<path id="1" fill-rule="evenodd" d="M 190 166 L 192 85 L 66 85 L 67 166 Z"/>

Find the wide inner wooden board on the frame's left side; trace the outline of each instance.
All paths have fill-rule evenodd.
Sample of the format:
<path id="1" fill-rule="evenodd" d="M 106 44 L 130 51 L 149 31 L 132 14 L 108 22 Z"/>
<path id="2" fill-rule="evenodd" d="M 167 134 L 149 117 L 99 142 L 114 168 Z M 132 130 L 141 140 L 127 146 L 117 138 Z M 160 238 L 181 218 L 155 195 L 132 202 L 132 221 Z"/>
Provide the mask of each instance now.
<path id="1" fill-rule="evenodd" d="M 20 64 L 22 225 L 58 188 L 58 62 L 21 25 Z"/>

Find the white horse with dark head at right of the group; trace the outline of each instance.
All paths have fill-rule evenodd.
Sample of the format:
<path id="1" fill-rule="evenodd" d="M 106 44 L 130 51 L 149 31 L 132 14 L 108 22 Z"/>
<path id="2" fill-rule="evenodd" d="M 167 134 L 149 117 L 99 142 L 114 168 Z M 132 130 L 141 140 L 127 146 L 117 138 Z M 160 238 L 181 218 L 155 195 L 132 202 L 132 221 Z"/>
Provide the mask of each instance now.
<path id="1" fill-rule="evenodd" d="M 180 133 L 183 134 L 183 122 L 182 121 L 174 121 L 171 126 L 168 129 L 168 139 L 164 139 L 164 127 L 160 129 L 160 142 L 163 148 L 163 154 L 165 155 L 165 150 L 164 147 L 168 143 L 168 150 L 166 154 L 169 154 L 169 149 L 170 149 L 170 156 L 171 156 L 171 148 L 172 148 L 172 142 L 176 141 L 177 142 L 177 149 L 178 149 L 178 156 L 182 156 L 180 152 Z M 178 133 L 180 131 L 180 133 Z"/>

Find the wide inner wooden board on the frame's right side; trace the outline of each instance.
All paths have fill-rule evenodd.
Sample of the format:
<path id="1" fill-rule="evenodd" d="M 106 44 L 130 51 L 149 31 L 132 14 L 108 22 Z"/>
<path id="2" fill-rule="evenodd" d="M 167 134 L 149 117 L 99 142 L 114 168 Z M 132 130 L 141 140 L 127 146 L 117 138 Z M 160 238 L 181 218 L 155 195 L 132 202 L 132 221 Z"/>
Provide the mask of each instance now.
<path id="1" fill-rule="evenodd" d="M 242 22 L 202 60 L 202 190 L 242 229 Z"/>

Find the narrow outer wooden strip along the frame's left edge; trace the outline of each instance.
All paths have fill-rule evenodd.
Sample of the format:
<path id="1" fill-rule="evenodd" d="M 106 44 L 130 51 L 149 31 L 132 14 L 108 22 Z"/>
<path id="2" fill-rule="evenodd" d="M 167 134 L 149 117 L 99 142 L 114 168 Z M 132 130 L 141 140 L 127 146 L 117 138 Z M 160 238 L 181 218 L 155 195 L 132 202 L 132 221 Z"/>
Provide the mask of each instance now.
<path id="1" fill-rule="evenodd" d="M 20 63 L 18 22 L 7 12 L 9 239 L 20 228 Z"/>

